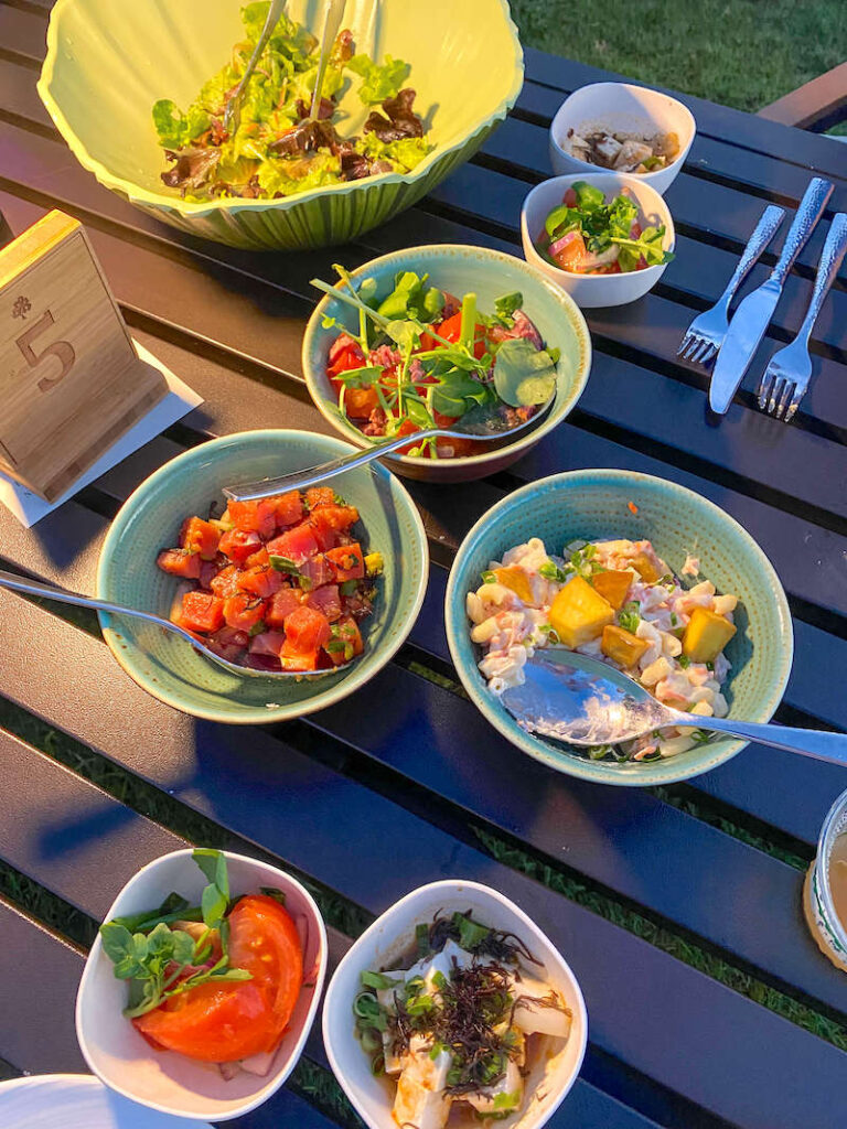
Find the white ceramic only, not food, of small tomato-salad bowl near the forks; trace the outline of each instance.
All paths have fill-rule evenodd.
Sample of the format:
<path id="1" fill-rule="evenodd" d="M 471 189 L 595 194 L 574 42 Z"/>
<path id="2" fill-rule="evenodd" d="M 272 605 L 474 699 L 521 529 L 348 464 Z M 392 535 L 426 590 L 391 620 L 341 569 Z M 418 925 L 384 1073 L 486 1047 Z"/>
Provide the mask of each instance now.
<path id="1" fill-rule="evenodd" d="M 661 266 L 645 266 L 643 271 L 630 271 L 627 274 L 574 274 L 571 271 L 553 266 L 535 250 L 535 239 L 544 229 L 544 220 L 553 208 L 562 202 L 566 191 L 577 181 L 585 181 L 586 184 L 602 189 L 606 199 L 617 195 L 623 187 L 629 189 L 634 199 L 638 201 L 647 224 L 652 226 L 664 224 L 665 235 L 662 246 L 665 251 L 673 251 L 676 235 L 670 209 L 656 190 L 645 184 L 644 177 L 628 176 L 625 173 L 579 173 L 542 181 L 524 200 L 521 209 L 521 240 L 526 262 L 538 266 L 552 282 L 557 282 L 583 309 L 592 309 L 595 306 L 625 306 L 629 301 L 643 298 L 662 278 L 667 263 Z"/>

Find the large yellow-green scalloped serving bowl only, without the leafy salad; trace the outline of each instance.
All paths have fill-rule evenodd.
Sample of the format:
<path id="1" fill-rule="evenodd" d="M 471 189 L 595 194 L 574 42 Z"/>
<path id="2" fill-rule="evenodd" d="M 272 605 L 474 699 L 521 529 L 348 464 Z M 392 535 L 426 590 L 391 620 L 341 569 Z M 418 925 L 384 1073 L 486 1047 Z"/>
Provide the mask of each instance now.
<path id="1" fill-rule="evenodd" d="M 468 160 L 523 85 L 523 51 L 506 0 L 348 0 L 358 51 L 411 64 L 409 85 L 435 149 L 411 173 L 387 173 L 282 200 L 189 203 L 159 180 L 166 167 L 152 104 L 192 102 L 244 37 L 238 0 L 58 0 L 38 94 L 80 164 L 142 211 L 207 239 L 251 250 L 346 243 L 384 224 Z M 323 5 L 289 0 L 320 33 Z M 349 84 L 342 132 L 367 110 Z"/>

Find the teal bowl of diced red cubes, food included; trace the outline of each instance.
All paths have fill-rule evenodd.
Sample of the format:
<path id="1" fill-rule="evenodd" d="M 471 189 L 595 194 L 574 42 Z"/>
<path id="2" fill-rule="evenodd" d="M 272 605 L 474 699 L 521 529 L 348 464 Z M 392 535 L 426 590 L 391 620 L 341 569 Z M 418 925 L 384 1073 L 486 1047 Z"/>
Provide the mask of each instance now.
<path id="1" fill-rule="evenodd" d="M 400 482 L 359 467 L 260 501 L 222 493 L 349 452 L 332 437 L 248 431 L 177 456 L 136 490 L 104 542 L 98 594 L 171 619 L 227 664 L 103 613 L 104 637 L 139 685 L 195 717 L 253 724 L 321 709 L 388 662 L 428 574 Z"/>

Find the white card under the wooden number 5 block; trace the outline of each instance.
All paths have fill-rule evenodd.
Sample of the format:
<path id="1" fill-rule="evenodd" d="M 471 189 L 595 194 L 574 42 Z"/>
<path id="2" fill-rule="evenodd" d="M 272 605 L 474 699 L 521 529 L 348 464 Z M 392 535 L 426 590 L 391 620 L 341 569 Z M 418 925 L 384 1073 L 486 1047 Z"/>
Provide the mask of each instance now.
<path id="1" fill-rule="evenodd" d="M 113 444 L 108 450 L 103 454 L 96 463 L 94 463 L 86 473 L 78 479 L 72 487 L 70 487 L 61 497 L 56 498 L 55 501 L 45 501 L 37 495 L 33 493 L 32 490 L 27 490 L 26 487 L 20 485 L 19 482 L 15 482 L 11 479 L 6 478 L 5 474 L 0 473 L 0 502 L 6 506 L 7 509 L 17 517 L 21 525 L 29 528 L 40 522 L 47 514 L 52 514 L 54 509 L 58 509 L 62 502 L 68 501 L 76 493 L 82 489 L 82 487 L 89 485 L 95 479 L 98 479 L 106 471 L 111 471 L 113 466 L 116 466 L 120 462 L 131 455 L 133 452 L 139 450 L 155 439 L 157 435 L 161 435 L 172 423 L 176 423 L 177 420 L 186 415 L 192 409 L 197 408 L 203 402 L 203 397 L 199 396 L 197 392 L 187 386 L 178 376 L 175 376 L 169 368 L 161 364 L 156 357 L 152 356 L 142 344 L 133 340 L 136 345 L 136 351 L 141 360 L 147 361 L 148 365 L 152 365 L 157 368 L 161 375 L 167 380 L 168 393 L 160 400 L 158 404 L 155 404 L 147 414 L 145 414 L 138 423 L 134 423 L 129 431 L 121 436 L 117 443 Z"/>

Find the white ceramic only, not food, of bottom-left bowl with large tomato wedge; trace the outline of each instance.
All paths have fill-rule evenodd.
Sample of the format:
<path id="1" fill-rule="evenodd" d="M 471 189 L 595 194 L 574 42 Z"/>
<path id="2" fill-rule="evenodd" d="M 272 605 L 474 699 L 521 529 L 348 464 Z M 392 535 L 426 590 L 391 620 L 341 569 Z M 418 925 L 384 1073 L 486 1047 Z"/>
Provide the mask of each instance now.
<path id="1" fill-rule="evenodd" d="M 89 953 L 77 994 L 77 1038 L 86 1062 L 97 1077 L 124 1097 L 161 1113 L 199 1121 L 228 1121 L 254 1110 L 286 1080 L 299 1059 L 317 1010 L 326 974 L 326 929 L 312 895 L 296 878 L 274 866 L 225 851 L 234 894 L 257 893 L 274 886 L 286 895 L 294 919 L 305 919 L 303 988 L 291 1022 L 263 1077 L 241 1071 L 225 1082 L 218 1068 L 173 1051 L 155 1051 L 121 1014 L 126 984 L 116 980 L 99 938 Z M 123 887 L 106 920 L 159 905 L 175 890 L 200 899 L 206 879 L 191 858 L 178 850 L 148 863 Z M 298 925 L 300 922 L 298 921 Z M 303 936 L 303 930 L 302 930 Z"/>

